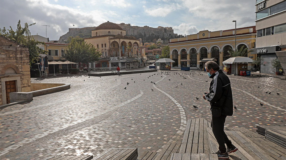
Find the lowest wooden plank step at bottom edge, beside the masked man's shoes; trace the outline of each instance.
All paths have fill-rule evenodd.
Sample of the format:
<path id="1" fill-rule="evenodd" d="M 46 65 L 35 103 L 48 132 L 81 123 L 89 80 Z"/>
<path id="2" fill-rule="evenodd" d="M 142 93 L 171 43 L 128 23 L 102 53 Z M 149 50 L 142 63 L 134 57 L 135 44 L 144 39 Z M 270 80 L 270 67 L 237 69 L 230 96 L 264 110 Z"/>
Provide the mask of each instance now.
<path id="1" fill-rule="evenodd" d="M 216 154 L 210 153 L 173 153 L 170 160 L 216 160 Z"/>

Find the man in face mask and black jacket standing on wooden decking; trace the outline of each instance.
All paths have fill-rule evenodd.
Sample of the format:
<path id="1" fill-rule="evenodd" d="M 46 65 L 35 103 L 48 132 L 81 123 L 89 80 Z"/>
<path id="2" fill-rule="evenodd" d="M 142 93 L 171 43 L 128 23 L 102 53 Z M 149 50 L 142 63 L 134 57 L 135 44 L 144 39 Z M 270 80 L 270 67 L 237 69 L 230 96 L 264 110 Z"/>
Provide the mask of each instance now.
<path id="1" fill-rule="evenodd" d="M 229 159 L 229 153 L 237 151 L 224 132 L 225 118 L 233 115 L 233 98 L 229 77 L 219 69 L 215 61 L 208 61 L 204 65 L 208 76 L 212 78 L 209 93 L 202 95 L 210 102 L 212 112 L 212 132 L 219 143 L 217 154 L 219 159 Z M 227 148 L 225 147 L 227 145 Z"/>

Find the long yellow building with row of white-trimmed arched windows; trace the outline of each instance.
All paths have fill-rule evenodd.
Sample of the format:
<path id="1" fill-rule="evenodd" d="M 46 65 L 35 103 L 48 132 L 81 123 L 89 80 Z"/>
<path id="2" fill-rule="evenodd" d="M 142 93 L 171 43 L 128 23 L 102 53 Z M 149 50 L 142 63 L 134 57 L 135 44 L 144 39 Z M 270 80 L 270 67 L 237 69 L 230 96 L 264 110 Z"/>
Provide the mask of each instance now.
<path id="1" fill-rule="evenodd" d="M 236 45 L 235 45 L 236 37 Z M 173 67 L 199 67 L 200 60 L 204 58 L 215 58 L 220 68 L 223 61 L 230 58 L 228 51 L 236 48 L 255 47 L 255 26 L 243 27 L 230 30 L 200 31 L 197 34 L 187 35 L 182 38 L 170 39 L 170 59 L 175 62 Z M 247 55 L 254 59 L 253 54 Z M 248 66 L 251 68 L 251 65 Z"/>

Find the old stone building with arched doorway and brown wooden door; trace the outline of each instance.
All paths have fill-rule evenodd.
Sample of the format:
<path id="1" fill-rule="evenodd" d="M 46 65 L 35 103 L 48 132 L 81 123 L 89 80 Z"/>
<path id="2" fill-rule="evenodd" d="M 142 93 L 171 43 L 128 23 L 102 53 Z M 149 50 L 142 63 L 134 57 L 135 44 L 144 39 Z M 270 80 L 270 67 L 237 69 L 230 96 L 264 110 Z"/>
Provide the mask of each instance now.
<path id="1" fill-rule="evenodd" d="M 29 50 L 0 36 L 0 105 L 10 103 L 9 93 L 31 91 Z"/>

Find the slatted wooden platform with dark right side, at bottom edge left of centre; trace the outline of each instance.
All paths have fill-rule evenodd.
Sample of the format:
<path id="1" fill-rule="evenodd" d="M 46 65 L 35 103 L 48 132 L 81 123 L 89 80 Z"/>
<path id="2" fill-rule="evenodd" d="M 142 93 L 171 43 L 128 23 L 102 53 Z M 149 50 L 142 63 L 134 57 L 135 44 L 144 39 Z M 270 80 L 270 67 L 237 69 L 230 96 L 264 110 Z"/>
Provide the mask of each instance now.
<path id="1" fill-rule="evenodd" d="M 137 157 L 137 148 L 115 148 L 100 153 L 92 160 L 136 160 Z"/>

